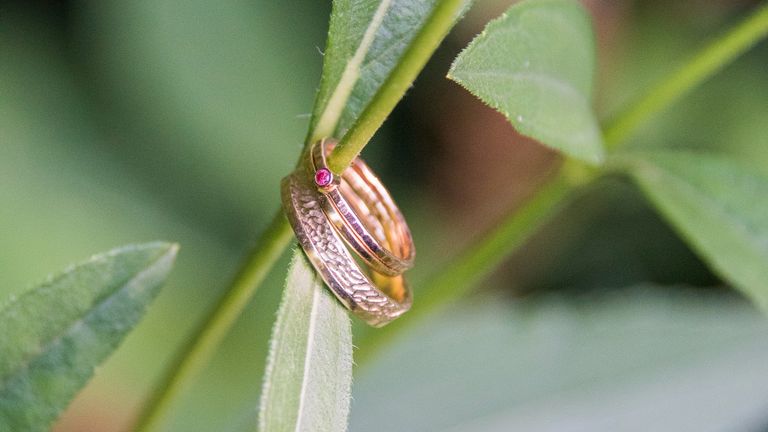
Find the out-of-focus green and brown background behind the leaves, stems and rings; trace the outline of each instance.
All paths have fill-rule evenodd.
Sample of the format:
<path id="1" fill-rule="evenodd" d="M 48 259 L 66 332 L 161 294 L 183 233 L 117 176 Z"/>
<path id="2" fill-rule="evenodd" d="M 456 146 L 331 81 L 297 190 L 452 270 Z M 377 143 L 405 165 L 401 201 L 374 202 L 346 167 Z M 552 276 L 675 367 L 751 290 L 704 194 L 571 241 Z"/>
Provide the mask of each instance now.
<path id="1" fill-rule="evenodd" d="M 509 4 L 476 2 L 365 151 L 411 222 L 416 281 L 558 163 L 444 78 Z M 605 118 L 757 2 L 586 4 Z M 0 301 L 118 245 L 182 246 L 146 319 L 55 430 L 128 430 L 226 287 L 301 148 L 329 13 L 316 0 L 0 0 Z M 767 118 L 761 43 L 632 145 L 728 152 L 768 173 Z M 285 265 L 171 430 L 253 430 Z M 353 396 L 352 431 L 766 431 L 768 322 L 609 178 L 460 307 L 359 368 Z"/>

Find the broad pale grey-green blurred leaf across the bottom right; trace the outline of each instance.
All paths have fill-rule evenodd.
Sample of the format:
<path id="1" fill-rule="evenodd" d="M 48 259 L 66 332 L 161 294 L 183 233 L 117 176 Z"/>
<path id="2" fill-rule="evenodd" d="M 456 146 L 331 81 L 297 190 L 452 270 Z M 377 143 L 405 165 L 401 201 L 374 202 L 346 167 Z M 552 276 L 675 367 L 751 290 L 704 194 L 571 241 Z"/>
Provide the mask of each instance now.
<path id="1" fill-rule="evenodd" d="M 480 297 L 422 322 L 365 366 L 350 430 L 765 429 L 768 321 L 712 291 L 614 292 Z"/>

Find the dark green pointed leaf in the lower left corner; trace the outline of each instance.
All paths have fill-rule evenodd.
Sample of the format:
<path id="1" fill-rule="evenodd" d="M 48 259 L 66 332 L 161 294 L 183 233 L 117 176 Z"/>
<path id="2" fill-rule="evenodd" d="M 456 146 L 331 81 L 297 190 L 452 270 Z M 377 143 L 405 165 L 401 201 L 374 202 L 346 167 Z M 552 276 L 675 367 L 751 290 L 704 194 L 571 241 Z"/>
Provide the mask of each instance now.
<path id="1" fill-rule="evenodd" d="M 44 431 L 139 322 L 178 247 L 96 255 L 0 311 L 0 430 Z"/>

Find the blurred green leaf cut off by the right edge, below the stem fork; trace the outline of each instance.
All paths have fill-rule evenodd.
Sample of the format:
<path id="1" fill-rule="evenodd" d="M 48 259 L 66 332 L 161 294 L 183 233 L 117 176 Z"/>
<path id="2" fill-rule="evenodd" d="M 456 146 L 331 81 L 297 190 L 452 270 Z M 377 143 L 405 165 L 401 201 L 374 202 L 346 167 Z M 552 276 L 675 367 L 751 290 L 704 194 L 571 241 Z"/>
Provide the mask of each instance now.
<path id="1" fill-rule="evenodd" d="M 768 178 L 721 156 L 621 156 L 640 187 L 712 268 L 768 311 Z"/>

